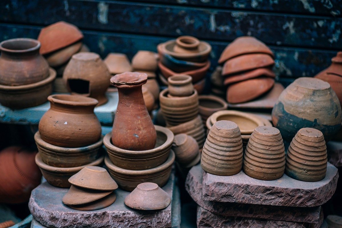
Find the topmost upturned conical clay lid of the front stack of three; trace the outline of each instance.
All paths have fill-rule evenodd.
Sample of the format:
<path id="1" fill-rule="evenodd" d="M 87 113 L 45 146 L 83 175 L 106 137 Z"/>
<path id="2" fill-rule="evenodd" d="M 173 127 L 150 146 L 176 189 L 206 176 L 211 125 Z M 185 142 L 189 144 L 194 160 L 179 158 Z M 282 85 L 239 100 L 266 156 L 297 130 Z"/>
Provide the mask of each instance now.
<path id="1" fill-rule="evenodd" d="M 110 191 L 118 188 L 106 169 L 98 166 L 86 166 L 68 179 L 70 184 L 82 188 Z"/>

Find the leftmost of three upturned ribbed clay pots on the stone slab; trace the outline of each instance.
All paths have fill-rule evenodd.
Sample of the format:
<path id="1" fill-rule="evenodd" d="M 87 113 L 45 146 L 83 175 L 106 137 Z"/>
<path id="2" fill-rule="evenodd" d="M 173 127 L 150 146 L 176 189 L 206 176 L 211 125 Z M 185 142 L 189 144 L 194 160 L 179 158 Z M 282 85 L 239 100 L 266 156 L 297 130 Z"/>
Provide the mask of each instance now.
<path id="1" fill-rule="evenodd" d="M 213 124 L 203 146 L 202 169 L 210 174 L 231 176 L 242 169 L 242 138 L 236 123 L 220 120 Z"/>

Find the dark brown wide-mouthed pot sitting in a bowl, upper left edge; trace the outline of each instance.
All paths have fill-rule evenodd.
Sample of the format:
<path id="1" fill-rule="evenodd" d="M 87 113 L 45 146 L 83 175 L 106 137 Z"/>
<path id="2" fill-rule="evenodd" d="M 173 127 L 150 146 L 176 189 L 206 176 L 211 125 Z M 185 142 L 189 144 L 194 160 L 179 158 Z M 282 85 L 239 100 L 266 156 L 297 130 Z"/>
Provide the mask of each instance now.
<path id="1" fill-rule="evenodd" d="M 49 64 L 39 54 L 40 42 L 29 38 L 0 43 L 0 84 L 27 85 L 49 77 Z"/>

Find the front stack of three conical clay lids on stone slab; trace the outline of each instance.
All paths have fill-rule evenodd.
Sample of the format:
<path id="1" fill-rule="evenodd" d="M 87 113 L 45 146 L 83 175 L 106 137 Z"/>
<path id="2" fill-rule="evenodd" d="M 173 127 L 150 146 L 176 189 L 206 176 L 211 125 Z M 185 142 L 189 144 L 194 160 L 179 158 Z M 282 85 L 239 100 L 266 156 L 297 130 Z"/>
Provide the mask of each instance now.
<path id="1" fill-rule="evenodd" d="M 116 182 L 107 170 L 98 166 L 86 166 L 68 179 L 71 187 L 62 201 L 79 211 L 103 209 L 116 200 Z"/>

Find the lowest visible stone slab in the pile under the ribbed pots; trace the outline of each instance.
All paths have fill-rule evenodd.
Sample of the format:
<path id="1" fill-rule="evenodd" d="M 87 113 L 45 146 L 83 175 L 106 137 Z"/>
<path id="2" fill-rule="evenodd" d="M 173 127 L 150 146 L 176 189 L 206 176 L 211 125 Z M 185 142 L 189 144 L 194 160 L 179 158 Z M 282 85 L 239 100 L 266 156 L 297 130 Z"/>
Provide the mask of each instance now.
<path id="1" fill-rule="evenodd" d="M 323 213 L 319 223 L 300 223 L 217 215 L 200 206 L 197 207 L 198 228 L 320 228 L 322 223 Z"/>

